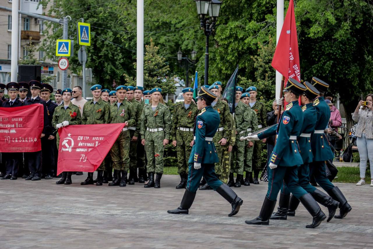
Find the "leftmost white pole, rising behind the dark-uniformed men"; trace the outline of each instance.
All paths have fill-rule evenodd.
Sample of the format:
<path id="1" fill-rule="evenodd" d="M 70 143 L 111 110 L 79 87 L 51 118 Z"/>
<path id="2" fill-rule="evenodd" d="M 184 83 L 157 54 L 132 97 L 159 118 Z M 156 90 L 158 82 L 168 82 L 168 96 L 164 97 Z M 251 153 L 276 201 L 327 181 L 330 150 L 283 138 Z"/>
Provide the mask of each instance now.
<path id="1" fill-rule="evenodd" d="M 18 82 L 18 0 L 12 1 L 12 60 L 10 65 L 10 80 Z"/>

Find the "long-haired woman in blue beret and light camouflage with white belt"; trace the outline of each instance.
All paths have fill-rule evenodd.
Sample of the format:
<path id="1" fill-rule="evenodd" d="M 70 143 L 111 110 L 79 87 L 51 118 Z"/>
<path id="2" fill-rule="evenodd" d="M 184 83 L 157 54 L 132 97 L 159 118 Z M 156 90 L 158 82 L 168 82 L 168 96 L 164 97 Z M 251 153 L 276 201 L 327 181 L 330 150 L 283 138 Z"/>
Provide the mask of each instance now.
<path id="1" fill-rule="evenodd" d="M 149 182 L 145 188 L 160 188 L 163 174 L 163 153 L 170 139 L 171 114 L 167 105 L 163 104 L 162 89 L 150 91 L 151 102 L 144 106 L 141 116 L 141 144 L 145 146 L 148 160 L 147 173 Z M 154 182 L 154 173 L 157 174 Z"/>

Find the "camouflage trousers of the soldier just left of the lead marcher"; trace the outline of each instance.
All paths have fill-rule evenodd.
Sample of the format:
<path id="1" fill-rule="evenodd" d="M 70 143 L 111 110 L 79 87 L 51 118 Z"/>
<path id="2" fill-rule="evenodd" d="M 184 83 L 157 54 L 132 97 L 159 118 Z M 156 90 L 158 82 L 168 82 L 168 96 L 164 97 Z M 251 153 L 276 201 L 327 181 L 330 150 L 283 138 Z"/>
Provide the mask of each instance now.
<path id="1" fill-rule="evenodd" d="M 178 157 L 178 173 L 188 174 L 189 156 L 192 152 L 190 142 L 193 140 L 193 132 L 176 130 L 176 154 Z"/>

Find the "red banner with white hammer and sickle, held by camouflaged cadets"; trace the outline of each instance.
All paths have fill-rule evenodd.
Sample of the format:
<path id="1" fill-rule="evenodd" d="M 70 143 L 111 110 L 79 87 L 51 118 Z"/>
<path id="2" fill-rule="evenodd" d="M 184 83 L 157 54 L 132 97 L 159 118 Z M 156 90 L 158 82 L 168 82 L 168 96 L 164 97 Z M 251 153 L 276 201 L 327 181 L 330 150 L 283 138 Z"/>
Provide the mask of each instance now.
<path id="1" fill-rule="evenodd" d="M 117 124 L 69 125 L 58 130 L 57 175 L 63 171 L 94 172 L 124 127 Z"/>

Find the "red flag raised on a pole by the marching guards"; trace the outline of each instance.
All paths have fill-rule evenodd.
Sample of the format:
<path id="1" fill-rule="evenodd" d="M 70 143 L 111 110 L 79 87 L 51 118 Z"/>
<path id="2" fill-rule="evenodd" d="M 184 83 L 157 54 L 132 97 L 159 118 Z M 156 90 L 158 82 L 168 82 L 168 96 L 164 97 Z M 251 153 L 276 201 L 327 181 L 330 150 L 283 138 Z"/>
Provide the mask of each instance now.
<path id="1" fill-rule="evenodd" d="M 297 25 L 295 24 L 293 0 L 289 1 L 289 8 L 283 21 L 275 55 L 273 55 L 272 67 L 285 77 L 285 85 L 289 78 L 301 81 Z"/>

